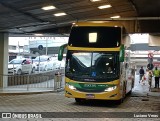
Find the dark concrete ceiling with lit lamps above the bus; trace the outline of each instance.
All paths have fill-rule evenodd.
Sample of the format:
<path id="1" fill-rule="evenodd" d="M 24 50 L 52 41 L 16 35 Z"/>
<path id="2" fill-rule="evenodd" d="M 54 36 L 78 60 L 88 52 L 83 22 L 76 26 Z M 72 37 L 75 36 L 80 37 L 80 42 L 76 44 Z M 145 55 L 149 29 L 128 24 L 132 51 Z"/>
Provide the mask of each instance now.
<path id="1" fill-rule="evenodd" d="M 100 10 L 97 7 L 110 4 Z M 56 9 L 41 8 L 54 5 Z M 69 33 L 71 24 L 82 20 L 106 20 L 122 23 L 130 33 L 160 33 L 160 0 L 0 0 L 0 32 L 12 34 Z M 67 15 L 55 17 L 53 14 Z M 110 19 L 119 15 L 119 19 Z"/>

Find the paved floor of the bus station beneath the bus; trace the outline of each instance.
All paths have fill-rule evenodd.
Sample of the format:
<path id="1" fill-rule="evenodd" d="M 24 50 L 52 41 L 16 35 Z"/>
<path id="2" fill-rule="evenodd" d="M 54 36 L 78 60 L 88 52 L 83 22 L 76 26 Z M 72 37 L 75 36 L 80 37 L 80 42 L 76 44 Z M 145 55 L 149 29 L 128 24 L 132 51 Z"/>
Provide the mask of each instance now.
<path id="1" fill-rule="evenodd" d="M 64 92 L 32 95 L 4 95 L 0 96 L 0 112 L 16 112 L 17 114 L 48 112 L 46 113 L 48 117 L 42 119 L 25 119 L 24 117 L 20 119 L 14 117 L 15 119 L 0 118 L 0 121 L 160 121 L 160 93 L 149 92 L 148 84 L 139 84 L 138 79 L 136 79 L 133 93 L 127 96 L 124 103 L 121 105 L 115 105 L 108 101 L 87 101 L 84 104 L 77 104 L 74 99 L 65 98 Z M 79 112 L 78 116 L 73 112 Z M 87 114 L 83 112 L 87 112 Z M 115 118 L 109 118 L 103 115 L 102 118 L 99 118 L 101 114 L 109 116 L 112 112 L 113 114 L 118 112 L 118 114 L 114 114 Z M 147 115 L 156 112 L 158 118 L 136 118 L 134 117 L 135 115 L 133 115 L 143 114 L 144 112 L 148 112 L 145 113 Z M 54 115 L 58 118 L 51 118 L 52 116 L 54 117 Z M 91 117 L 80 118 L 84 115 L 90 115 Z M 128 115 L 129 118 L 119 118 L 122 115 Z"/>

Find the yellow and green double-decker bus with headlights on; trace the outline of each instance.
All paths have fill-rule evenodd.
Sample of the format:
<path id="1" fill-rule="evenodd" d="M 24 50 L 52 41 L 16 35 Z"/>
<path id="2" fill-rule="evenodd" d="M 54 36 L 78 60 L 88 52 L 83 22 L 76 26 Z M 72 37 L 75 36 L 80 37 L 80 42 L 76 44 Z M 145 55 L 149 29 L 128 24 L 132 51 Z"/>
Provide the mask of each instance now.
<path id="1" fill-rule="evenodd" d="M 108 22 L 73 24 L 68 44 L 59 49 L 62 60 L 67 48 L 65 96 L 76 102 L 86 99 L 123 101 L 132 91 L 134 70 L 129 39 L 123 26 Z"/>

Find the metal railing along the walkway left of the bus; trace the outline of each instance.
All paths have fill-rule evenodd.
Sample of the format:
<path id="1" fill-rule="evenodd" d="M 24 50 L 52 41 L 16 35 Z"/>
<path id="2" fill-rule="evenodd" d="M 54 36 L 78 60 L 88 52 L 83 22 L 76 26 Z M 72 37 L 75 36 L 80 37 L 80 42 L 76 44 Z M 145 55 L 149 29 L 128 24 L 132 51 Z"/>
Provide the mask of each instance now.
<path id="1" fill-rule="evenodd" d="M 37 74 L 0 75 L 0 79 L 3 80 L 0 93 L 60 91 L 64 89 L 64 70 L 62 69 Z"/>

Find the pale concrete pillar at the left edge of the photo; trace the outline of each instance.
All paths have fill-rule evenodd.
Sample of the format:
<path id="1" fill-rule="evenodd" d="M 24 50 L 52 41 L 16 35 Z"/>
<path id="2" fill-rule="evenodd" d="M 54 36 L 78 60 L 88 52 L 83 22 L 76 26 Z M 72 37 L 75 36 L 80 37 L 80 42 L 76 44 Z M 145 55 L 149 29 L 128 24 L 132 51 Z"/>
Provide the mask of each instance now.
<path id="1" fill-rule="evenodd" d="M 0 33 L 0 88 L 7 87 L 8 33 Z"/>

